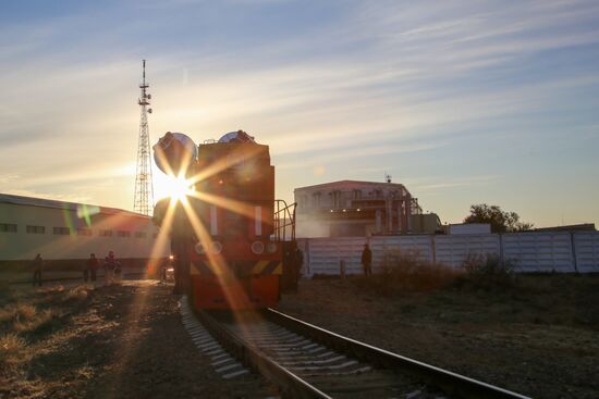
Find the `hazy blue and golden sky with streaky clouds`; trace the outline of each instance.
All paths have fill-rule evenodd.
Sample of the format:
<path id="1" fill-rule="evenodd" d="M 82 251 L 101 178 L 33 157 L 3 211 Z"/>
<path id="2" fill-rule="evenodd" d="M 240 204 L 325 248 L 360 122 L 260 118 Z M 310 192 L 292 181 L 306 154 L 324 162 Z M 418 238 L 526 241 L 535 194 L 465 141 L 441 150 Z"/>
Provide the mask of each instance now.
<path id="1" fill-rule="evenodd" d="M 133 209 L 142 59 L 151 144 L 244 129 L 288 201 L 388 173 L 443 223 L 599 226 L 597 1 L 3 2 L 0 192 Z"/>

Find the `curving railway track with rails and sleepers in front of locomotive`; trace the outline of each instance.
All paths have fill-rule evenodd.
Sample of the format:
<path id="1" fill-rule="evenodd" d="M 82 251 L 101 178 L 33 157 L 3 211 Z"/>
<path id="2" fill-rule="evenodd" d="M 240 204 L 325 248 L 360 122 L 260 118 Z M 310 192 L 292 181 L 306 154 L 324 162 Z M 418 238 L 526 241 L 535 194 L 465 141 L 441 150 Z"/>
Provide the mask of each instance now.
<path id="1" fill-rule="evenodd" d="M 293 398 L 526 398 L 272 309 L 196 313 L 233 358 Z"/>

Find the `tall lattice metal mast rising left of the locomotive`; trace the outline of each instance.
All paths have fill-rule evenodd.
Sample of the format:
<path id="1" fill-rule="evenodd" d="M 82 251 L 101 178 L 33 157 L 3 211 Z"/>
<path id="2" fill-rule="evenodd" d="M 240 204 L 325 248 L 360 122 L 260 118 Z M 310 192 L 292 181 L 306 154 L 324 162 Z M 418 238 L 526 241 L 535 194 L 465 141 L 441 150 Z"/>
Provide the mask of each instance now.
<path id="1" fill-rule="evenodd" d="M 139 141 L 137 147 L 137 173 L 135 177 L 135 198 L 133 209 L 146 215 L 150 215 L 154 209 L 154 186 L 151 183 L 151 161 L 149 147 L 148 113 L 151 113 L 149 107 L 149 95 L 146 89 L 149 85 L 146 83 L 146 60 L 143 60 L 143 80 L 139 84 L 142 96 L 137 100 L 142 109 L 139 120 Z"/>

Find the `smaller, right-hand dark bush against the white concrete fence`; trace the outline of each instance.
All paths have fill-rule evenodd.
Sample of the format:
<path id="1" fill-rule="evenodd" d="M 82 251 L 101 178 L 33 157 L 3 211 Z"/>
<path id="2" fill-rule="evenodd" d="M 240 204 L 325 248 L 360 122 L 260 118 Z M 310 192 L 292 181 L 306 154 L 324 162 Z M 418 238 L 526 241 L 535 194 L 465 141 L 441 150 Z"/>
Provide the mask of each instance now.
<path id="1" fill-rule="evenodd" d="M 515 263 L 497 254 L 469 254 L 462 264 L 465 278 L 478 288 L 509 287 L 515 283 Z"/>

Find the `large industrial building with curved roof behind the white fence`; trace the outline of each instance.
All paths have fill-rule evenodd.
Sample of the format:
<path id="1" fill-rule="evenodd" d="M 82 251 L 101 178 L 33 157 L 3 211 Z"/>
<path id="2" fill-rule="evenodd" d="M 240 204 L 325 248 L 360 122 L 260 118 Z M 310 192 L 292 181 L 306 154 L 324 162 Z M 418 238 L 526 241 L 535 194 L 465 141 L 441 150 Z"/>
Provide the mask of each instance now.
<path id="1" fill-rule="evenodd" d="M 340 180 L 294 190 L 297 237 L 433 234 L 439 216 L 423 213 L 402 184 Z"/>

